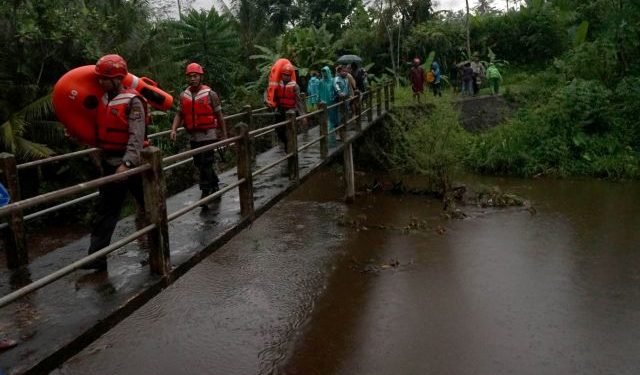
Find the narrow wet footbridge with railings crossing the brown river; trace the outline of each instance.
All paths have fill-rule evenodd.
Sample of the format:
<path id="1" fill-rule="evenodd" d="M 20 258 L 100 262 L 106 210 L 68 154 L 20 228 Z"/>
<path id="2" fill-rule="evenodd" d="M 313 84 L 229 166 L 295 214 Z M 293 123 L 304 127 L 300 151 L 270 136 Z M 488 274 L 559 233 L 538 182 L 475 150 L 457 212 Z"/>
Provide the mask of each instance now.
<path id="1" fill-rule="evenodd" d="M 348 106 L 352 101 L 360 105 L 355 106 L 355 113 L 349 116 Z M 13 203 L 0 208 L 0 218 L 6 220 L 0 225 L 7 258 L 7 269 L 0 271 L 0 294 L 3 295 L 0 339 L 2 336 L 14 338 L 19 343 L 0 353 L 0 373 L 2 370 L 12 374 L 42 373 L 59 365 L 228 241 L 301 180 L 340 155 L 344 162 L 345 197 L 354 199 L 352 144 L 380 122 L 393 102 L 393 86 L 384 83 L 349 100 L 320 106 L 303 116 L 290 113 L 288 120 L 264 127 L 258 127 L 256 120 L 264 116 L 266 108 L 253 110 L 246 106 L 245 111 L 225 117 L 229 124 L 235 123 L 233 137 L 170 156 L 163 156 L 156 147 L 148 147 L 143 151 L 145 163 L 139 167 L 23 200 L 18 173 L 97 150 L 20 165 L 16 165 L 13 155 L 1 154 L 3 183 Z M 328 111 L 334 108 L 341 113 L 341 123 L 330 129 Z M 306 123 L 304 119 L 314 119 L 318 126 L 311 129 L 300 126 Z M 273 136 L 278 127 L 286 127 L 287 150 L 292 151 L 285 154 L 273 147 L 256 153 L 255 141 Z M 150 138 L 168 134 L 169 131 L 159 132 Z M 331 142 L 336 135 L 337 140 Z M 236 155 L 235 168 L 219 176 L 224 187 L 203 199 L 197 186 L 167 196 L 166 173 L 189 163 L 193 155 L 221 147 L 233 149 Z M 281 165 L 286 165 L 285 174 Z M 145 199 L 145 219 L 137 223 L 137 230 L 134 217 L 127 217 L 118 223 L 111 245 L 94 254 L 86 255 L 89 236 L 85 236 L 29 259 L 25 235 L 29 220 L 92 199 L 97 193 L 74 197 L 137 174 L 143 178 Z M 217 210 L 199 209 L 201 204 L 218 198 L 221 201 Z M 64 202 L 25 215 L 30 208 L 61 200 Z M 109 255 L 108 277 L 112 289 L 104 292 L 108 298 L 96 301 L 78 286 L 88 275 L 79 275 L 77 271 L 106 255 Z"/>

